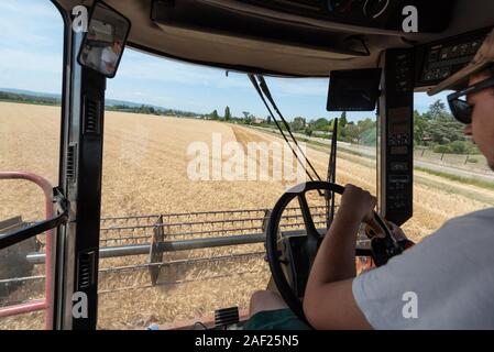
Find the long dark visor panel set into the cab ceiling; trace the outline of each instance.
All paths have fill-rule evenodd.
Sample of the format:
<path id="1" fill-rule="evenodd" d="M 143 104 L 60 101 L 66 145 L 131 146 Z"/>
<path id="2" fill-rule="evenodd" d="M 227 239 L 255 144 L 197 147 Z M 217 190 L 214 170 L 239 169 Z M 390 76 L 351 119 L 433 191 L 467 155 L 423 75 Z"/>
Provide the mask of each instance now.
<path id="1" fill-rule="evenodd" d="M 206 9 L 207 8 L 207 9 Z M 204 13 L 208 13 L 207 16 Z M 362 41 L 304 24 L 245 15 L 201 2 L 184 1 L 167 6 L 153 2 L 151 19 L 167 34 L 210 43 L 210 52 L 244 50 L 274 52 L 329 59 L 365 57 L 370 53 Z"/>

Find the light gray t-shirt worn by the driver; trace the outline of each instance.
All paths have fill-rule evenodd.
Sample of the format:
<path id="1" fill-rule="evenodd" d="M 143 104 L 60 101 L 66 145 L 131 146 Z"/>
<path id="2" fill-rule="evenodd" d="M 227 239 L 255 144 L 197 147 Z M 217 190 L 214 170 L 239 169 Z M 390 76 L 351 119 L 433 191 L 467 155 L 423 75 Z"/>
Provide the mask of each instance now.
<path id="1" fill-rule="evenodd" d="M 494 208 L 447 221 L 352 290 L 374 329 L 494 329 Z"/>

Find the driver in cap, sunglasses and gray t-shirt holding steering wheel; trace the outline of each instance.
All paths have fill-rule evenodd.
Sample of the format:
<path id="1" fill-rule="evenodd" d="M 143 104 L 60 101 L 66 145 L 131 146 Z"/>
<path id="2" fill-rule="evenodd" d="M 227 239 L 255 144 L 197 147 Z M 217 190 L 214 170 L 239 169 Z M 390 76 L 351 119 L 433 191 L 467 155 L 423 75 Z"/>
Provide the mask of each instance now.
<path id="1" fill-rule="evenodd" d="M 473 61 L 429 91 L 448 96 L 494 170 L 494 31 Z M 461 90 L 462 89 L 462 90 Z M 316 329 L 494 329 L 494 208 L 447 221 L 387 264 L 355 273 L 359 224 L 376 199 L 348 185 L 311 268 L 304 299 Z M 308 329 L 275 289 L 255 293 L 245 329 Z"/>

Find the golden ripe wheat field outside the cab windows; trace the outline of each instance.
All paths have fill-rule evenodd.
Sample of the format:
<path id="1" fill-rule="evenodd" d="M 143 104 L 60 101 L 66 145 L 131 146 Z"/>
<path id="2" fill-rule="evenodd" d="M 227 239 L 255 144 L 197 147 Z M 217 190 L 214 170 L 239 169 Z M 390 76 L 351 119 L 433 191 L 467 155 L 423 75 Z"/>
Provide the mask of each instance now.
<path id="1" fill-rule="evenodd" d="M 57 107 L 0 102 L 0 170 L 29 170 L 56 185 L 61 110 Z M 272 142 L 276 136 L 243 127 L 191 119 L 107 112 L 103 142 L 101 215 L 133 216 L 271 208 L 285 189 L 279 182 L 195 182 L 187 177 L 193 142 L 211 146 L 212 134 L 223 143 Z M 326 175 L 328 155 L 312 148 L 308 156 L 320 175 Z M 375 194 L 375 166 L 358 156 L 341 154 L 337 183 L 355 184 Z M 475 197 L 479 195 L 479 197 Z M 482 197 L 481 197 L 482 196 Z M 416 173 L 414 218 L 403 229 L 420 241 L 451 217 L 492 207 L 494 193 L 475 186 Z M 26 221 L 43 219 L 43 194 L 24 182 L 1 180 L 0 221 L 22 216 Z M 262 245 L 246 249 L 262 250 Z M 222 250 L 231 253 L 233 250 Z M 101 267 L 132 264 L 145 257 L 102 261 Z M 248 268 L 249 271 L 246 271 Z M 41 268 L 37 268 L 40 271 Z M 217 277 L 175 286 L 106 293 L 99 296 L 101 329 L 139 329 L 151 321 L 173 323 L 210 316 L 215 309 L 239 306 L 246 309 L 250 295 L 264 288 L 270 274 L 262 260 L 249 260 L 219 267 L 210 264 L 182 273 L 183 277 L 227 271 L 234 276 Z M 147 272 L 100 277 L 100 285 L 146 282 Z M 15 292 L 17 299 L 40 297 L 40 287 Z M 6 329 L 40 329 L 42 315 L 0 319 Z"/>

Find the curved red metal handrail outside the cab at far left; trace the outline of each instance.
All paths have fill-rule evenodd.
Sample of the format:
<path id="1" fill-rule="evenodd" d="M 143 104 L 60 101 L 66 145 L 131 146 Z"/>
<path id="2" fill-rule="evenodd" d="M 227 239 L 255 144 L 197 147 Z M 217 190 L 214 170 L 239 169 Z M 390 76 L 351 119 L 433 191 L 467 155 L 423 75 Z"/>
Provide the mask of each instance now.
<path id="1" fill-rule="evenodd" d="M 25 179 L 36 184 L 45 195 L 46 219 L 53 218 L 53 186 L 45 178 L 25 172 L 0 172 L 0 179 Z M 24 312 L 45 310 L 45 329 L 53 328 L 53 292 L 52 292 L 52 251 L 53 231 L 45 232 L 45 298 L 39 301 L 30 301 L 21 305 L 0 308 L 0 317 L 20 315 Z"/>

